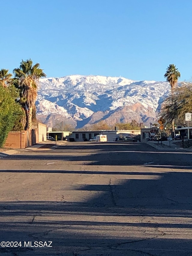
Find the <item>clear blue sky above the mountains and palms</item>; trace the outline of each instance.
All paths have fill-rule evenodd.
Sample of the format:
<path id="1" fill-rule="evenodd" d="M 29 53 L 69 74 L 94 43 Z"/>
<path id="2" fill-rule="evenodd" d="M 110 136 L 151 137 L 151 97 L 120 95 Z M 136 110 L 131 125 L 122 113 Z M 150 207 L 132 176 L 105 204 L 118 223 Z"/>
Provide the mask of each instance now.
<path id="1" fill-rule="evenodd" d="M 164 80 L 169 64 L 192 77 L 191 0 L 6 0 L 0 68 L 39 62 L 72 74 Z"/>

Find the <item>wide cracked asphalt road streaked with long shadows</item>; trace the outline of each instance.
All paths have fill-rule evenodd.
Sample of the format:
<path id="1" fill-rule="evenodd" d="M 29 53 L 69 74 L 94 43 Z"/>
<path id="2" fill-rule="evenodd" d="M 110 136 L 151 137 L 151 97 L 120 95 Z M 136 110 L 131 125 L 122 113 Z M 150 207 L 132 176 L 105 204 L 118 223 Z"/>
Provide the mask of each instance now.
<path id="1" fill-rule="evenodd" d="M 0 173 L 0 241 L 21 241 L 0 255 L 192 255 L 192 153 L 66 143 L 0 159 Z"/>

